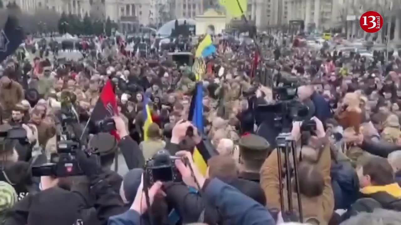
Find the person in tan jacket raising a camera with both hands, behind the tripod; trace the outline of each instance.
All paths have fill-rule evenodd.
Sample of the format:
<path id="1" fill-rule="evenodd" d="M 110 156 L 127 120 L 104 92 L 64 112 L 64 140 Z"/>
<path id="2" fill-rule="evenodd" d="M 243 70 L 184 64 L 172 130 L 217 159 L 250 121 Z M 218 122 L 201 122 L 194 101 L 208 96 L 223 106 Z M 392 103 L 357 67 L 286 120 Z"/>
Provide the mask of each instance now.
<path id="1" fill-rule="evenodd" d="M 333 201 L 333 190 L 330 183 L 330 144 L 328 142 L 328 138 L 326 137 L 326 132 L 324 131 L 322 122 L 313 117 L 311 119 L 316 123 L 316 130 L 310 131 L 311 135 L 306 141 L 306 145 L 301 145 L 301 149 L 293 149 L 292 151 L 296 152 L 297 159 L 297 169 L 298 170 L 298 181 L 299 181 L 299 190 L 300 190 L 300 198 L 301 198 L 301 207 L 302 207 L 302 216 L 304 218 L 304 222 L 316 224 L 328 224 L 330 221 L 333 209 L 334 209 L 334 201 Z M 302 131 L 302 123 L 304 122 L 294 122 L 293 128 L 291 132 L 291 136 L 293 140 L 298 142 L 301 140 L 301 133 L 304 135 Z M 278 166 L 278 153 L 279 149 L 274 150 L 269 157 L 265 160 L 261 167 L 260 176 L 261 176 L 261 187 L 265 192 L 265 196 L 269 196 L 267 200 L 267 205 L 271 211 L 281 210 L 281 203 L 284 202 L 284 210 L 285 212 L 281 212 L 282 215 L 292 214 L 294 212 L 288 212 L 288 207 L 286 206 L 287 192 L 283 191 L 284 199 L 280 199 L 280 189 L 279 185 L 279 166 Z M 284 166 L 284 154 L 282 153 L 282 171 L 293 170 L 294 167 L 293 161 L 290 161 L 290 165 Z M 292 153 L 289 153 L 292 155 Z M 292 157 L 291 157 L 292 159 Z M 298 159 L 299 162 L 298 162 Z M 294 169 L 294 170 L 295 170 Z M 292 177 L 291 177 L 292 181 Z M 298 209 L 298 199 L 296 194 L 296 185 L 295 182 L 291 182 L 290 187 L 295 192 L 292 192 L 292 205 L 294 209 L 296 209 L 297 213 L 300 212 Z M 284 190 L 288 190 L 289 187 L 284 185 Z"/>

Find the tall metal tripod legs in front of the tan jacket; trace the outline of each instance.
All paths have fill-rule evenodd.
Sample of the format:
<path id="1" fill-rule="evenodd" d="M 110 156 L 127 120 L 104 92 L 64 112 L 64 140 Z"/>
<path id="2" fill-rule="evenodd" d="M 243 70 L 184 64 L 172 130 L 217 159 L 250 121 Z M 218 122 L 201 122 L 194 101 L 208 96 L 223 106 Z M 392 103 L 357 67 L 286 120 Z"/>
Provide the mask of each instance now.
<path id="1" fill-rule="evenodd" d="M 282 215 L 284 213 L 288 213 L 289 215 L 296 215 L 294 213 L 294 207 L 292 205 L 292 185 L 291 185 L 291 173 L 294 171 L 294 178 L 295 178 L 295 188 L 297 192 L 298 198 L 298 212 L 299 212 L 299 219 L 300 222 L 303 222 L 302 216 L 302 205 L 301 205 L 301 196 L 300 196 L 300 187 L 299 187 L 299 180 L 298 180 L 298 168 L 297 168 L 297 157 L 296 157 L 296 148 L 295 148 L 295 141 L 292 139 L 291 133 L 279 133 L 276 138 L 277 141 L 277 162 L 278 162 L 278 177 L 279 177 L 279 189 L 280 189 L 280 206 Z M 284 153 L 284 166 L 285 174 L 282 171 L 282 158 L 281 154 Z M 292 153 L 293 158 L 293 167 L 290 164 L 290 154 Z M 288 211 L 286 211 L 284 207 L 284 193 L 283 193 L 283 174 L 286 178 L 286 186 L 287 186 L 287 199 L 288 199 Z M 287 221 L 286 221 L 287 222 Z"/>

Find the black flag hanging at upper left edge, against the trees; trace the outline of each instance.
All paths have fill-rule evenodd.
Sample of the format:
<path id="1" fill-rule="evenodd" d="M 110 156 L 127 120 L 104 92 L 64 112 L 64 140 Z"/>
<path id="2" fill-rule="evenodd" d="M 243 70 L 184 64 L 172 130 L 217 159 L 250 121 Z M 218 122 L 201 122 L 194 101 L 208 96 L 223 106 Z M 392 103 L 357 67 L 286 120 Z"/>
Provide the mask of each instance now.
<path id="1" fill-rule="evenodd" d="M 0 31 L 0 62 L 20 46 L 24 40 L 22 27 L 18 25 L 18 19 L 14 16 L 8 16 L 3 30 Z"/>

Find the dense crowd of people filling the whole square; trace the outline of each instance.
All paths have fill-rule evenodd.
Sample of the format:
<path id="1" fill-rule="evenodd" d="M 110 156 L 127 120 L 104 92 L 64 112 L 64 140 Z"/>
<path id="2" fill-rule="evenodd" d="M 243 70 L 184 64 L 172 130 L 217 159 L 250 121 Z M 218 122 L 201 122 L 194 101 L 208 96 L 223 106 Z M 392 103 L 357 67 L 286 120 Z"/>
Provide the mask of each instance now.
<path id="1" fill-rule="evenodd" d="M 401 224 L 401 58 L 265 40 L 221 42 L 203 59 L 201 81 L 166 54 L 113 45 L 114 54 L 79 61 L 10 56 L 0 78 L 2 224 Z M 203 133 L 190 118 L 198 82 Z M 89 134 L 108 83 L 115 133 Z M 60 164 L 65 133 L 96 154 L 76 150 Z M 295 161 L 284 159 L 279 133 Z M 206 171 L 192 157 L 198 150 Z M 162 171 L 180 181 L 153 181 L 156 155 L 168 156 Z M 62 166 L 44 171 L 49 162 Z"/>

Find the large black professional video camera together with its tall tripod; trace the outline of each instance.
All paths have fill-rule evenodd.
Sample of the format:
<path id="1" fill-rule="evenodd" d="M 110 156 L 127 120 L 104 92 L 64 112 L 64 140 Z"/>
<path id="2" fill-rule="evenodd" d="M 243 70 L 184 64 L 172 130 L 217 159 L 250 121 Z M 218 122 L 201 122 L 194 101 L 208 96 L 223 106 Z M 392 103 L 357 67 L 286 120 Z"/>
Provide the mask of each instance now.
<path id="1" fill-rule="evenodd" d="M 276 103 L 273 105 L 259 105 L 256 108 L 256 113 L 259 113 L 259 118 L 268 120 L 274 115 L 273 130 L 279 130 L 275 138 L 275 147 L 277 148 L 277 163 L 279 171 L 279 190 L 280 190 L 280 205 L 281 212 L 284 212 L 286 217 L 285 222 L 303 221 L 302 218 L 302 204 L 300 198 L 300 187 L 298 181 L 298 158 L 296 154 L 295 140 L 291 135 L 292 124 L 294 121 L 302 121 L 301 131 L 307 131 L 311 134 L 316 131 L 316 123 L 308 117 L 309 109 L 302 102 L 296 99 L 298 82 L 291 79 L 283 79 L 281 76 L 277 77 L 276 87 L 273 88 L 273 96 L 276 98 Z M 263 127 L 264 126 L 264 127 Z M 271 123 L 261 122 L 258 133 L 263 132 L 264 129 L 272 129 Z M 272 132 L 273 133 L 273 132 Z M 277 133 L 276 133 L 277 134 Z M 284 157 L 282 157 L 284 154 Z M 284 158 L 284 166 L 282 159 Z M 290 159 L 292 158 L 292 159 Z M 294 211 L 292 194 L 293 182 L 295 178 L 295 191 L 298 195 L 298 212 Z M 285 181 L 284 181 L 285 180 Z M 288 210 L 284 207 L 284 182 L 286 182 Z"/>

